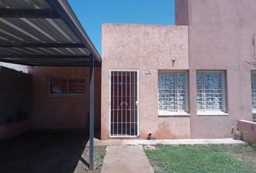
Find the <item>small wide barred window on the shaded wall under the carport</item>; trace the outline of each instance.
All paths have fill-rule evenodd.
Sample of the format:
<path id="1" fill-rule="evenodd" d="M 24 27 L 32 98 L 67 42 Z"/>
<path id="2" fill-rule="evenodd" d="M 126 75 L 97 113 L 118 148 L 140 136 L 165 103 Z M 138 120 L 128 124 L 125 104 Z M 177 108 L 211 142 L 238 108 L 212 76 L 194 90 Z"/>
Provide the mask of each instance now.
<path id="1" fill-rule="evenodd" d="M 85 94 L 85 78 L 50 78 L 48 86 L 51 95 Z"/>

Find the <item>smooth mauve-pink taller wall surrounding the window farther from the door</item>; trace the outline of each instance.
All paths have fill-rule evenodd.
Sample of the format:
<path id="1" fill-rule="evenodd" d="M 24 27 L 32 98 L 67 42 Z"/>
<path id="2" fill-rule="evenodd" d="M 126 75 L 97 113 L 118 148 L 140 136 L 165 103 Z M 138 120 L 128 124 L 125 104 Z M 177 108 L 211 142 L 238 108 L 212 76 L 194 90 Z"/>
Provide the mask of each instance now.
<path id="1" fill-rule="evenodd" d="M 256 68 L 247 62 L 256 58 L 256 1 L 189 0 L 188 4 L 191 136 L 229 138 L 237 120 L 252 120 L 251 71 Z M 179 6 L 176 10 L 184 11 Z M 176 24 L 183 23 L 183 17 L 176 19 Z M 228 115 L 197 115 L 197 70 L 226 71 Z"/>

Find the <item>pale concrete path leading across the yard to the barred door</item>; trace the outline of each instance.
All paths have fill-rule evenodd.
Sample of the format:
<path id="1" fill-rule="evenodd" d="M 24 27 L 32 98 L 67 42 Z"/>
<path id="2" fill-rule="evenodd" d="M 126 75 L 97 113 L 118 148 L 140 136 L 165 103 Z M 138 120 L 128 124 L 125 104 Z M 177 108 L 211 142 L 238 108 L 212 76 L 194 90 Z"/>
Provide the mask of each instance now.
<path id="1" fill-rule="evenodd" d="M 153 173 L 142 146 L 107 146 L 101 173 Z"/>

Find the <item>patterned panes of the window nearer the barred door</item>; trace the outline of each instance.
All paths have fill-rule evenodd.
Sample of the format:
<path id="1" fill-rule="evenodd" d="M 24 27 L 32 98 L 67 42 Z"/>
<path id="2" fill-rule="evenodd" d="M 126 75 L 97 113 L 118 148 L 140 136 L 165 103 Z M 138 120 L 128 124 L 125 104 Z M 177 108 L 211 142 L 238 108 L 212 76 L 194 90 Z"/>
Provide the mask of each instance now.
<path id="1" fill-rule="evenodd" d="M 186 91 L 186 72 L 160 72 L 158 74 L 158 109 L 186 111 Z"/>

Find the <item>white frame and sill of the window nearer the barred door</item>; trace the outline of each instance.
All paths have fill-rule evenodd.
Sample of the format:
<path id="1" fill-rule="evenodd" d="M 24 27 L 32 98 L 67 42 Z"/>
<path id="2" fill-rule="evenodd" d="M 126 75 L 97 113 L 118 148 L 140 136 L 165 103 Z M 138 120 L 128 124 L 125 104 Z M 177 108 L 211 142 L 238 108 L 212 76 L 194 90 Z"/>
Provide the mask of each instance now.
<path id="1" fill-rule="evenodd" d="M 158 71 L 158 79 L 159 79 L 159 74 L 175 74 L 175 79 L 176 81 L 178 80 L 177 76 L 178 73 L 184 73 L 184 86 L 185 86 L 185 109 L 184 110 L 179 110 L 178 107 L 176 110 L 159 110 L 159 102 L 158 102 L 158 115 L 159 116 L 168 116 L 168 115 L 175 115 L 175 116 L 179 116 L 179 115 L 189 115 L 188 113 L 188 72 L 187 71 Z M 178 85 L 176 82 L 175 85 L 175 89 L 177 89 Z M 158 99 L 159 99 L 159 84 L 158 84 Z M 176 93 L 178 94 L 178 93 Z M 175 98 L 175 102 L 177 104 L 178 100 L 177 100 L 177 96 Z"/>

